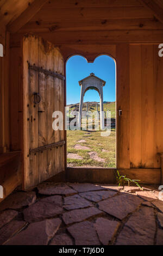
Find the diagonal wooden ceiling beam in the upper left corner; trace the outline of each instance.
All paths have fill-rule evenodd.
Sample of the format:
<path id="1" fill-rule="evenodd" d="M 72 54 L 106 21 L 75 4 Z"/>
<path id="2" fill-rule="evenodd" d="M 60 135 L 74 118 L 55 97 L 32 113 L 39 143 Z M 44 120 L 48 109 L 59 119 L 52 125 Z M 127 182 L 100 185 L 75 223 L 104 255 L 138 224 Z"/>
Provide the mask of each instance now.
<path id="1" fill-rule="evenodd" d="M 7 25 L 7 31 L 16 33 L 43 7 L 48 0 L 35 0 L 15 21 Z"/>

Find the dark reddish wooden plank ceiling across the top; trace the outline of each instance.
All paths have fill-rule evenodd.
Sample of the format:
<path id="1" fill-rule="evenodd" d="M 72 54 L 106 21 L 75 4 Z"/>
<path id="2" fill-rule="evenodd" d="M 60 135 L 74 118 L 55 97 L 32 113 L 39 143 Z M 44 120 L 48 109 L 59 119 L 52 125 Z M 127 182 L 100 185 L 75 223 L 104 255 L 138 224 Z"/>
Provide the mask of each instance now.
<path id="1" fill-rule="evenodd" d="M 36 33 L 55 44 L 162 42 L 162 0 L 1 0 L 11 33 Z"/>

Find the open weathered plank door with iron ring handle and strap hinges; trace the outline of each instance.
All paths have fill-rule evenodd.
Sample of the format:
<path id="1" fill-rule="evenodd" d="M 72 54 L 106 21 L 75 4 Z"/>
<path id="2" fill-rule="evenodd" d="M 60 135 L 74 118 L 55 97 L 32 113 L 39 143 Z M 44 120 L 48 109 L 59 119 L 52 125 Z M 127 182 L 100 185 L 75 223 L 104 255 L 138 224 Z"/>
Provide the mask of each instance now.
<path id="1" fill-rule="evenodd" d="M 24 188 L 65 170 L 64 130 L 54 131 L 54 111 L 64 117 L 64 60 L 35 35 L 23 38 Z"/>

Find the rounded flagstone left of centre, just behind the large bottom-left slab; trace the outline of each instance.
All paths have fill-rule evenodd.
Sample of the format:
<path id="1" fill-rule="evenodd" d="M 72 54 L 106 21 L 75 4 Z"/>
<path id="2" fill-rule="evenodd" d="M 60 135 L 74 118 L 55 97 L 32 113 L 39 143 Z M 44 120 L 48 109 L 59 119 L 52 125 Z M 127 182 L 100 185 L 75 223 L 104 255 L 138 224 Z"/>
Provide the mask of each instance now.
<path id="1" fill-rule="evenodd" d="M 62 208 L 60 206 L 47 202 L 37 202 L 23 211 L 24 220 L 27 222 L 42 221 L 61 213 Z"/>

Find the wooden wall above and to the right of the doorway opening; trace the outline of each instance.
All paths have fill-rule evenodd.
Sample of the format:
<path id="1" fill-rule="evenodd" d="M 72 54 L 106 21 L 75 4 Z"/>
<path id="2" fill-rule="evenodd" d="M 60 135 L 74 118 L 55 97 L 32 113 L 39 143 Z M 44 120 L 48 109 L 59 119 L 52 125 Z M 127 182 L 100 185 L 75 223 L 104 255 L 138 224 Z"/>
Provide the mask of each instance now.
<path id="1" fill-rule="evenodd" d="M 18 41 L 11 38 L 11 45 Z M 64 44 L 60 50 L 65 63 L 72 54 L 90 62 L 102 53 L 115 58 L 117 168 L 160 168 L 156 154 L 163 152 L 163 57 L 158 44 Z"/>

